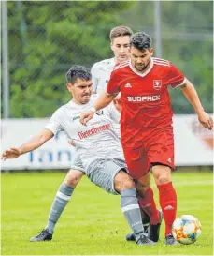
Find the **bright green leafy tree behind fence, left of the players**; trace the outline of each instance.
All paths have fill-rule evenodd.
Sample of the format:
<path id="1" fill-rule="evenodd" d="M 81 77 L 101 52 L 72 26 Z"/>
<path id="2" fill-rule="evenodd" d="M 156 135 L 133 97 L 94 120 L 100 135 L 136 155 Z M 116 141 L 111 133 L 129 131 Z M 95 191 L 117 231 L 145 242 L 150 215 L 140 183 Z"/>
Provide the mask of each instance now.
<path id="1" fill-rule="evenodd" d="M 48 116 L 67 102 L 68 68 L 110 57 L 109 31 L 134 4 L 8 2 L 11 117 Z"/>

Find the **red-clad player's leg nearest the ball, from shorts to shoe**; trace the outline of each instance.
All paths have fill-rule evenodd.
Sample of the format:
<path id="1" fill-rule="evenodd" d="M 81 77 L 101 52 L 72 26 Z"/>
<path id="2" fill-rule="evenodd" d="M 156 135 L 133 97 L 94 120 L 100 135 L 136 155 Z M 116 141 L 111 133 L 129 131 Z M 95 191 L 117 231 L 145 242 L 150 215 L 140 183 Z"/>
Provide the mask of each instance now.
<path id="1" fill-rule="evenodd" d="M 172 185 L 171 170 L 174 169 L 174 137 L 172 128 L 151 138 L 148 155 L 152 173 L 159 190 L 159 202 L 165 221 L 165 243 L 176 244 L 172 236 L 172 224 L 177 214 L 177 194 Z"/>

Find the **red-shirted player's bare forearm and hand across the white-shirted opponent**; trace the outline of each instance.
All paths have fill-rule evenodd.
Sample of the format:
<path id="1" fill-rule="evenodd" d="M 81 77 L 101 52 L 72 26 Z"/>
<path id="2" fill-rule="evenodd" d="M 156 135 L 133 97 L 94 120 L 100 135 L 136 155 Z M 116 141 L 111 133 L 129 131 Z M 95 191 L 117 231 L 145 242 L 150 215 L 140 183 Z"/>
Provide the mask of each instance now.
<path id="1" fill-rule="evenodd" d="M 117 96 L 117 94 L 114 95 L 109 95 L 107 92 L 103 92 L 94 102 L 93 108 L 91 109 L 90 112 L 88 113 L 82 113 L 81 117 L 79 119 L 79 122 L 83 125 L 86 126 L 86 124 L 89 122 L 89 120 L 93 119 L 93 114 L 96 111 L 99 111 L 107 105 L 110 104 L 110 102 Z"/>

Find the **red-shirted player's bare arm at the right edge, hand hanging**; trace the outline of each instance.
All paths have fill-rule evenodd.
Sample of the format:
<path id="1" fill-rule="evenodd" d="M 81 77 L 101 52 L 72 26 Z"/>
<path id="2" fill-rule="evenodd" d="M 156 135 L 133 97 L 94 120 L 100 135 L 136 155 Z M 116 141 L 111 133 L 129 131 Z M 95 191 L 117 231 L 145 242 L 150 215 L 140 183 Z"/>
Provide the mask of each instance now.
<path id="1" fill-rule="evenodd" d="M 198 97 L 196 90 L 194 89 L 193 84 L 189 80 L 187 80 L 187 82 L 181 86 L 181 89 L 185 97 L 193 105 L 193 108 L 198 115 L 199 122 L 203 125 L 203 127 L 211 130 L 213 128 L 212 117 L 204 111 L 201 101 Z"/>

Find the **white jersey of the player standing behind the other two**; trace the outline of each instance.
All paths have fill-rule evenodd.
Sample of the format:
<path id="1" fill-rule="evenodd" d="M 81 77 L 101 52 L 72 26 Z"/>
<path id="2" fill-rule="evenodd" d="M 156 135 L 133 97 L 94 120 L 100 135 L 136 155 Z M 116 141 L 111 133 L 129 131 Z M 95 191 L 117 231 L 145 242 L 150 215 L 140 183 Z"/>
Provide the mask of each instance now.
<path id="1" fill-rule="evenodd" d="M 110 74 L 115 66 L 114 58 L 102 60 L 93 64 L 91 70 L 93 75 L 93 92 L 100 94 L 107 89 Z"/>

